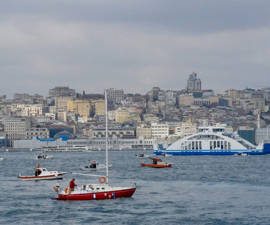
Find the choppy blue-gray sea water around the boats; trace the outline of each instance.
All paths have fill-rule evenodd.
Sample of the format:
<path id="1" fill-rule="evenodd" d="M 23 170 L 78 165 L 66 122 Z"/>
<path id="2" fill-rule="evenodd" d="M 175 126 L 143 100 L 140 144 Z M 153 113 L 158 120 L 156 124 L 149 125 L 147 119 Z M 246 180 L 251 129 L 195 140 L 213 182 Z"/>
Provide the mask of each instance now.
<path id="1" fill-rule="evenodd" d="M 49 153 L 49 160 L 31 160 L 36 152 L 0 152 L 0 224 L 270 224 L 270 156 L 171 156 L 171 168 L 150 168 L 136 159 L 136 150 L 109 151 L 110 185 L 140 181 L 131 198 L 90 201 L 52 200 L 53 186 L 98 183 L 67 175 L 63 180 L 21 181 L 40 163 L 48 170 L 86 173 L 88 160 L 106 163 L 105 151 Z M 144 151 L 151 154 L 152 151 Z M 43 155 L 43 153 L 40 153 Z M 130 166 L 129 166 L 130 165 Z M 130 172 L 130 168 L 132 173 Z M 96 172 L 105 175 L 106 172 Z"/>

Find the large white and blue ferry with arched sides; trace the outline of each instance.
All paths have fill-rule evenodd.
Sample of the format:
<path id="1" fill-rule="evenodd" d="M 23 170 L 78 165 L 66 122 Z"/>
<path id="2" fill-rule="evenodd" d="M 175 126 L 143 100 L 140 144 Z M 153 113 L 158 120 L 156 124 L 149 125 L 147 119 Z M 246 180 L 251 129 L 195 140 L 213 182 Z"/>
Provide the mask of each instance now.
<path id="1" fill-rule="evenodd" d="M 163 148 L 154 144 L 153 153 L 172 155 L 234 155 L 243 152 L 249 155 L 270 154 L 270 140 L 264 140 L 258 146 L 253 145 L 239 135 L 224 132 L 225 127 L 209 126 L 199 127 L 199 132 L 183 137 L 172 145 Z"/>

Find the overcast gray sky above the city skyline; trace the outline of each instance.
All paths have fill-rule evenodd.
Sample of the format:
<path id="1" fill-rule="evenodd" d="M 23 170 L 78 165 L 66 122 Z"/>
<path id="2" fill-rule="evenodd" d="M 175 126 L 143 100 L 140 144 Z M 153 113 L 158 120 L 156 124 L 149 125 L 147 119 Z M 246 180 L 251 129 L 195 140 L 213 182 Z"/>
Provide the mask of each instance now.
<path id="1" fill-rule="evenodd" d="M 270 85 L 270 1 L 0 1 L 0 95 Z"/>

